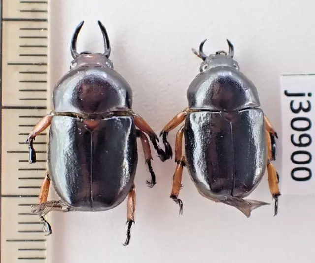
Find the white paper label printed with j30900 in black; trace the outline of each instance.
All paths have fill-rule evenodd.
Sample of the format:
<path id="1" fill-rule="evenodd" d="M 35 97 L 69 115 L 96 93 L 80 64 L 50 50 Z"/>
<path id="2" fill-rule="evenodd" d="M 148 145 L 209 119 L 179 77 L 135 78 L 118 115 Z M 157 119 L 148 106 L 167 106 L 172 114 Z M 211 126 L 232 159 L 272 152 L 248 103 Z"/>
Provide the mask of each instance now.
<path id="1" fill-rule="evenodd" d="M 315 194 L 315 74 L 283 75 L 282 194 Z"/>

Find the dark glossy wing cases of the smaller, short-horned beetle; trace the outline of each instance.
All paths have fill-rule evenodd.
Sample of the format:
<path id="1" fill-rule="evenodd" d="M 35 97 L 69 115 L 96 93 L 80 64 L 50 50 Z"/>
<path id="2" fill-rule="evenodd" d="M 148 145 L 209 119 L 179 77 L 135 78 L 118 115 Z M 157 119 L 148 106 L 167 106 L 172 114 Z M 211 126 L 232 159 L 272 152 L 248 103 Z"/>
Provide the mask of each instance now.
<path id="1" fill-rule="evenodd" d="M 203 196 L 244 198 L 261 181 L 267 165 L 261 109 L 189 113 L 184 136 L 187 168 Z"/>

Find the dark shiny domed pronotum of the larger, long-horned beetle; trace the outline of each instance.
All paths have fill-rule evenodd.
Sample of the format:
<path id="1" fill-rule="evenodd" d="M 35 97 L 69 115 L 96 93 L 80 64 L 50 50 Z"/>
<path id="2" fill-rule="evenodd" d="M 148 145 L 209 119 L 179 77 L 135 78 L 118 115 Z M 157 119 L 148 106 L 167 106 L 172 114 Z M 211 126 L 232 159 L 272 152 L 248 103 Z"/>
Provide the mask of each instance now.
<path id="1" fill-rule="evenodd" d="M 132 90 L 126 80 L 109 67 L 80 66 L 56 84 L 53 104 L 56 112 L 97 114 L 130 110 Z"/>

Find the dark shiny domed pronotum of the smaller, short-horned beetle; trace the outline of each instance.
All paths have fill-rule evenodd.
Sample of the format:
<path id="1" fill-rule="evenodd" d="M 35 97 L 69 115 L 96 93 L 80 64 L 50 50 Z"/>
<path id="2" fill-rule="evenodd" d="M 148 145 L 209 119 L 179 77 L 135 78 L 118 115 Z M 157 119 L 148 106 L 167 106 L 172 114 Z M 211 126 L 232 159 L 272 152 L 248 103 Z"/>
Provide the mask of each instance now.
<path id="1" fill-rule="evenodd" d="M 190 109 L 236 111 L 259 107 L 254 84 L 240 71 L 217 66 L 200 73 L 187 90 Z"/>

